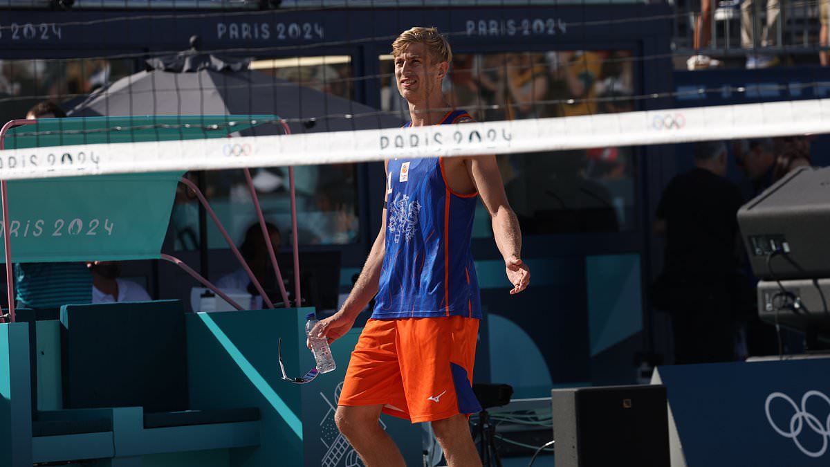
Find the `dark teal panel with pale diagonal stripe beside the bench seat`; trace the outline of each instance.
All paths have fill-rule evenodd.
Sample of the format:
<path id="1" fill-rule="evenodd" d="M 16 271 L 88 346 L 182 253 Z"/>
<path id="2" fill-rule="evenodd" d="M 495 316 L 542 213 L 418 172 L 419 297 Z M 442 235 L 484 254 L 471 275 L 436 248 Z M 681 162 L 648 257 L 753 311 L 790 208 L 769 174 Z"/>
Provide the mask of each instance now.
<path id="1" fill-rule="evenodd" d="M 282 337 L 286 367 L 299 366 L 300 315 L 310 310 L 188 314 L 191 407 L 260 410 L 261 445 L 232 450 L 235 467 L 303 463 L 300 386 L 281 381 L 276 355 Z"/>

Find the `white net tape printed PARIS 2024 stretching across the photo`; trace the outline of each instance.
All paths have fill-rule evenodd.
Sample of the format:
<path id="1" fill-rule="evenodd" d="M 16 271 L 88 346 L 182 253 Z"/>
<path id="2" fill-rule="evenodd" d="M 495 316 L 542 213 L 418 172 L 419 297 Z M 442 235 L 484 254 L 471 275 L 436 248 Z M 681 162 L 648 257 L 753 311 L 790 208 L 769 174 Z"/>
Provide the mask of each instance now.
<path id="1" fill-rule="evenodd" d="M 420 128 L 0 151 L 0 178 L 324 165 L 830 132 L 830 99 Z"/>

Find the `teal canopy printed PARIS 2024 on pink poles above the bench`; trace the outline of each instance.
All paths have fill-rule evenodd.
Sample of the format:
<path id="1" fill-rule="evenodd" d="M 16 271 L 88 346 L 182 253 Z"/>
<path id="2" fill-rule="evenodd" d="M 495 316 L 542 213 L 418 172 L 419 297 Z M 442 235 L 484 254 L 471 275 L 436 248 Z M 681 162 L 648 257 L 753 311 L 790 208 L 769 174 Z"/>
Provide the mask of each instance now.
<path id="1" fill-rule="evenodd" d="M 6 149 L 23 149 L 220 138 L 250 128 L 252 120 L 278 118 L 242 115 L 42 119 L 9 130 L 4 143 Z M 237 120 L 246 123 L 227 125 Z M 107 130 L 112 128 L 120 130 Z M 54 155 L 53 160 L 59 165 L 77 162 L 61 154 Z M 8 163 L 25 165 L 27 161 Z M 159 258 L 181 176 L 180 172 L 160 172 L 8 182 L 12 262 Z M 0 261 L 5 262 L 2 255 Z"/>

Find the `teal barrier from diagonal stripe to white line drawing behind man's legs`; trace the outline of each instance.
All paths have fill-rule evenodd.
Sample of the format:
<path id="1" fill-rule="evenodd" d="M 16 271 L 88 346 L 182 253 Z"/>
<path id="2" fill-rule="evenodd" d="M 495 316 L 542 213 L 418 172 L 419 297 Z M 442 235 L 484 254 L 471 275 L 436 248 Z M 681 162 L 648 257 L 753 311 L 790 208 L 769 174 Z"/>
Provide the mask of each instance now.
<path id="1" fill-rule="evenodd" d="M 307 385 L 281 380 L 278 338 L 289 376 L 314 366 L 305 347 L 305 313 L 313 308 L 188 315 L 190 401 L 201 408 L 258 407 L 260 445 L 232 450 L 229 465 L 356 465 L 357 455 L 334 425 L 349 356 L 362 329 L 334 343 L 337 369 Z M 382 425 L 408 465 L 422 464 L 421 428 L 383 415 Z M 349 464 L 351 462 L 351 464 Z"/>

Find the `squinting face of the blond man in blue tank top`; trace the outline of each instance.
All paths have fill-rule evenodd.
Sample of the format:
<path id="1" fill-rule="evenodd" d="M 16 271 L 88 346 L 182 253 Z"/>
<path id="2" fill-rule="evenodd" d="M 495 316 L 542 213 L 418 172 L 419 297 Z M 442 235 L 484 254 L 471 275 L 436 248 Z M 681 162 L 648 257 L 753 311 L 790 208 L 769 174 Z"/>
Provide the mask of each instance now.
<path id="1" fill-rule="evenodd" d="M 441 92 L 447 62 L 432 61 L 427 47 L 420 42 L 409 44 L 395 57 L 395 81 L 404 99 L 417 104 L 428 101 L 432 93 Z"/>

